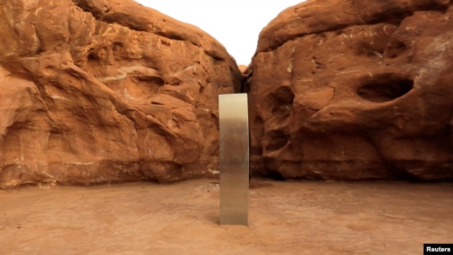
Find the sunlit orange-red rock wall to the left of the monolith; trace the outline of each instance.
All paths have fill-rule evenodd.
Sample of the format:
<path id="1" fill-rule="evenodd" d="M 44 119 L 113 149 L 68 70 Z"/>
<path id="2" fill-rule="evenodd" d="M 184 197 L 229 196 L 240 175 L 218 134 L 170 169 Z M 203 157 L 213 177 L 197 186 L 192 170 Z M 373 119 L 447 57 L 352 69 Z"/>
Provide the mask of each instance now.
<path id="1" fill-rule="evenodd" d="M 130 0 L 1 1 L 0 31 L 0 187 L 218 169 L 242 75 L 204 31 Z"/>

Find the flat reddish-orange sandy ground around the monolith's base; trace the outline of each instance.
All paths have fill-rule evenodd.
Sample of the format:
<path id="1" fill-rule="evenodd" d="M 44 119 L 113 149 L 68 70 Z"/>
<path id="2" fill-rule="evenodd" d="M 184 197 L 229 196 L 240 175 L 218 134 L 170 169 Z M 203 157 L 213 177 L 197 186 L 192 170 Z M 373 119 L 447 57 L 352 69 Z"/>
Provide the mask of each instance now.
<path id="1" fill-rule="evenodd" d="M 423 254 L 453 242 L 453 184 L 252 180 L 249 226 L 219 185 L 0 190 L 0 254 Z"/>

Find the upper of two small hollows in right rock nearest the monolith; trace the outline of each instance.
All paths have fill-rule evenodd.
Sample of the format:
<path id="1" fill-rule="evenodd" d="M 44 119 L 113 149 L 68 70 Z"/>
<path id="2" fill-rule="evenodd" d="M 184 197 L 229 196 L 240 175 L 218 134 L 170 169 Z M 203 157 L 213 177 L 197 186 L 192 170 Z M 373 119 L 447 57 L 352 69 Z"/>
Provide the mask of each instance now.
<path id="1" fill-rule="evenodd" d="M 281 86 L 270 93 L 272 102 L 272 114 L 278 118 L 289 116 L 294 101 L 293 89 L 289 86 Z"/>

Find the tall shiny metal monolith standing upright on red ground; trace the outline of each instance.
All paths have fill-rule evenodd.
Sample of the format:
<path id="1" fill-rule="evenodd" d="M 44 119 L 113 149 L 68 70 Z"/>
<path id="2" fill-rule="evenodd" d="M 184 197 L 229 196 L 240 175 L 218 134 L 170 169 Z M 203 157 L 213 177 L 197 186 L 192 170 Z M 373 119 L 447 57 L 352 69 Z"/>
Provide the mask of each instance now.
<path id="1" fill-rule="evenodd" d="M 248 224 L 247 94 L 219 95 L 220 224 Z"/>

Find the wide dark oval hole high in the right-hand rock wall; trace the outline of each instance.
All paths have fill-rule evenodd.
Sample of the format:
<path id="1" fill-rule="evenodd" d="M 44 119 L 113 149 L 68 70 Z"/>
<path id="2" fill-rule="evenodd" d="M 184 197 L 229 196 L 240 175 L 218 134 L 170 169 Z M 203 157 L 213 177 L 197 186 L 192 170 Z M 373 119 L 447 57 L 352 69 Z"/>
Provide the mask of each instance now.
<path id="1" fill-rule="evenodd" d="M 380 77 L 357 90 L 361 98 L 371 102 L 388 102 L 408 93 L 414 86 L 413 80 L 395 77 Z"/>

